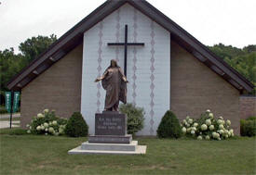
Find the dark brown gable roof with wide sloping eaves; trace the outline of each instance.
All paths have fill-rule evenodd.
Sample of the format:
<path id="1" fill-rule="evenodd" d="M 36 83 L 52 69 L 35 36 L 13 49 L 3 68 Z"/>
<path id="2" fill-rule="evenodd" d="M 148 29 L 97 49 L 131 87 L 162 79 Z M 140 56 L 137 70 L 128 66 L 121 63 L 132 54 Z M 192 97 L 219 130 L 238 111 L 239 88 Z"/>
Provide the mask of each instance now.
<path id="1" fill-rule="evenodd" d="M 101 6 L 91 12 L 88 17 L 82 19 L 71 30 L 67 31 L 47 51 L 35 58 L 26 68 L 22 69 L 11 81 L 7 83 L 10 90 L 20 90 L 38 75 L 60 60 L 75 46 L 83 43 L 83 34 L 101 19 L 111 14 L 115 9 L 128 3 L 141 11 L 144 15 L 153 19 L 160 26 L 170 32 L 171 39 L 182 45 L 189 53 L 213 70 L 225 81 L 231 83 L 237 90 L 251 92 L 254 85 L 232 69 L 222 58 L 213 54 L 207 46 L 201 44 L 190 33 L 183 30 L 178 24 L 168 19 L 163 13 L 150 5 L 145 0 L 107 0 Z"/>

